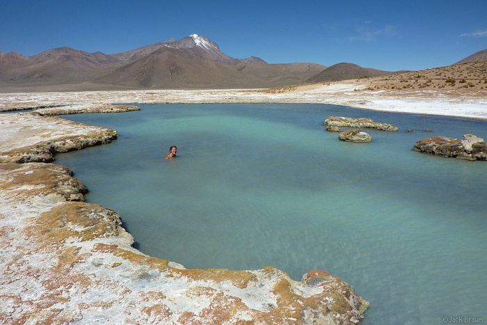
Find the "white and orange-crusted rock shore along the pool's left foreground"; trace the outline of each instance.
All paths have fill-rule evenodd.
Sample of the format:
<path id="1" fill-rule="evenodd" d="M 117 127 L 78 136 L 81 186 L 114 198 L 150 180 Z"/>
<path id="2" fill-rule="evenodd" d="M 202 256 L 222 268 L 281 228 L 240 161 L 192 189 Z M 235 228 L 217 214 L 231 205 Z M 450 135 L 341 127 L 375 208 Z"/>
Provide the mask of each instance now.
<path id="1" fill-rule="evenodd" d="M 0 116 L 0 128 L 7 140 L 23 138 L 17 145 L 30 143 L 0 144 L 0 157 L 17 158 L 114 133 L 27 113 Z M 83 128 L 83 145 L 69 141 Z M 185 269 L 144 255 L 118 214 L 82 202 L 86 191 L 64 166 L 0 164 L 0 324 L 356 324 L 369 307 L 325 271 L 295 281 L 273 267 Z"/>

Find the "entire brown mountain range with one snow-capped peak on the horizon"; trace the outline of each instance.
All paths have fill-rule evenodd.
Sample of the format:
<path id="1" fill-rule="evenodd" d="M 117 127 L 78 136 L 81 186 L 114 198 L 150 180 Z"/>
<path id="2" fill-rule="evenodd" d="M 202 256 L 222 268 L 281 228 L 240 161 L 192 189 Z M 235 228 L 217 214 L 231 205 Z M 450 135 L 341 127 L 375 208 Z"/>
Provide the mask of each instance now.
<path id="1" fill-rule="evenodd" d="M 485 56 L 487 50 L 463 61 Z M 317 63 L 269 64 L 255 56 L 232 58 L 215 42 L 197 34 L 115 54 L 70 47 L 34 56 L 0 52 L 1 92 L 271 88 L 392 73 L 352 63 L 327 68 Z"/>

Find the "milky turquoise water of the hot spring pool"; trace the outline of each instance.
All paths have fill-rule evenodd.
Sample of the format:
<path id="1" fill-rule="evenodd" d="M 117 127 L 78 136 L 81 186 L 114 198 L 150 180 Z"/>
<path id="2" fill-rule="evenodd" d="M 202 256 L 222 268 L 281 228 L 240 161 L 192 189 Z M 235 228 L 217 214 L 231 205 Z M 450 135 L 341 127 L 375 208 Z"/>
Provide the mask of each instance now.
<path id="1" fill-rule="evenodd" d="M 143 253 L 295 280 L 324 269 L 371 303 L 362 324 L 487 317 L 487 163 L 411 150 L 426 136 L 487 138 L 487 122 L 319 104 L 141 108 L 65 116 L 120 137 L 56 163 L 122 216 Z M 328 116 L 400 130 L 344 143 L 324 131 Z M 177 159 L 163 160 L 173 144 Z"/>

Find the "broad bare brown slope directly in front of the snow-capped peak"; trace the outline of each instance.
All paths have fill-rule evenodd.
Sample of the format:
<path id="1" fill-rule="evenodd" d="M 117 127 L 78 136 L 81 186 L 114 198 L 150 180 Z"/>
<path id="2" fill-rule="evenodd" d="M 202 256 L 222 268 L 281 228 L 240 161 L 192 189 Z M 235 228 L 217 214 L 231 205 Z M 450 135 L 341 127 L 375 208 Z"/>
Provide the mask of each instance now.
<path id="1" fill-rule="evenodd" d="M 287 72 L 285 65 L 212 61 L 193 49 L 161 47 L 157 51 L 96 79 L 99 84 L 133 88 L 266 88 L 302 82 L 321 65 Z M 304 71 L 304 72 L 303 72 Z"/>

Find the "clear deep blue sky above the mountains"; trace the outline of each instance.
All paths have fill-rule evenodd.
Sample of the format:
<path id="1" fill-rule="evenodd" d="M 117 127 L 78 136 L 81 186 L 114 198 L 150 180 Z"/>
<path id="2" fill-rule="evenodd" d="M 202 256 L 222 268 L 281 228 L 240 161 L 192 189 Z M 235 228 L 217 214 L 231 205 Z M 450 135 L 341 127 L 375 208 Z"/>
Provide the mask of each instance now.
<path id="1" fill-rule="evenodd" d="M 235 58 L 392 71 L 487 49 L 486 0 L 0 1 L 0 51 L 25 56 L 62 46 L 113 54 L 197 33 Z"/>

